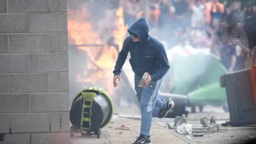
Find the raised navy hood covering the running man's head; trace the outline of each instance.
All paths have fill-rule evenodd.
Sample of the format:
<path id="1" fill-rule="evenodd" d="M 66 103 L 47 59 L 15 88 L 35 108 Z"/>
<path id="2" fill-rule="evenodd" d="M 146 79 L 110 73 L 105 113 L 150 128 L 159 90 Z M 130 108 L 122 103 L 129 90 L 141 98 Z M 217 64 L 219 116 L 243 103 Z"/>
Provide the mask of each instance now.
<path id="1" fill-rule="evenodd" d="M 130 29 L 128 29 L 129 33 L 133 33 L 140 38 L 140 43 L 143 44 L 148 41 L 149 38 L 149 27 L 144 18 L 140 18 L 138 21 L 133 23 Z"/>

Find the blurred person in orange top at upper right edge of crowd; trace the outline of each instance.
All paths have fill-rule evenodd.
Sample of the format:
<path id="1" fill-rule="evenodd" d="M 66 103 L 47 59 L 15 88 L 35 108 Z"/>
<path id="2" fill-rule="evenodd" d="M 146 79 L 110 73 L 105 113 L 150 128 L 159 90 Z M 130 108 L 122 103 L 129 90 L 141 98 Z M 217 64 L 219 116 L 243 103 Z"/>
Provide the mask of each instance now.
<path id="1" fill-rule="evenodd" d="M 211 26 L 213 18 L 221 19 L 225 6 L 219 0 L 210 0 L 205 4 L 205 19 Z"/>

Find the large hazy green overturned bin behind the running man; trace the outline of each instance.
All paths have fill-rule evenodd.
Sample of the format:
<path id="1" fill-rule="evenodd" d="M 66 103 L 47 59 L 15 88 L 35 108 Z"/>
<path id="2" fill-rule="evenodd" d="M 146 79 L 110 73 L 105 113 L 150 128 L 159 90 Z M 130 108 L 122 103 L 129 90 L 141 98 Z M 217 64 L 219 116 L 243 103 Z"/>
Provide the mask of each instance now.
<path id="1" fill-rule="evenodd" d="M 213 54 L 193 54 L 187 57 L 175 57 L 172 62 L 172 93 L 188 96 L 188 106 L 195 112 L 203 106 L 214 103 L 226 105 L 226 90 L 219 79 L 227 73 L 221 59 Z M 225 110 L 226 111 L 226 110 Z"/>

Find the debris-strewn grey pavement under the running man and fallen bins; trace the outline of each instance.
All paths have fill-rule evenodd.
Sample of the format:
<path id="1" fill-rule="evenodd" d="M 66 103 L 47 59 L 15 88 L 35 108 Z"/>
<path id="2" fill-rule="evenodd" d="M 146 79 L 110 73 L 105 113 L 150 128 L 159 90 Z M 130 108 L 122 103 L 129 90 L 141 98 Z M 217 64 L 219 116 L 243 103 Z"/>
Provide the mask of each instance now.
<path id="1" fill-rule="evenodd" d="M 199 118 L 202 116 L 209 117 L 211 115 L 215 115 L 217 119 L 217 123 L 225 122 L 225 119 L 229 118 L 228 113 L 223 113 L 221 111 L 212 111 L 210 108 L 205 113 L 196 113 L 196 114 L 189 114 L 188 120 L 190 122 L 198 122 Z M 124 111 L 123 111 L 124 112 Z M 123 115 L 130 115 L 132 116 L 132 110 L 126 110 Z M 121 114 L 120 114 L 121 115 Z M 134 115 L 133 115 L 134 116 Z M 138 117 L 138 114 L 137 114 Z M 125 126 L 130 127 L 130 129 L 120 130 L 121 125 L 124 124 Z M 221 128 L 220 128 L 221 129 Z M 132 143 L 135 140 L 135 137 L 138 137 L 140 130 L 140 119 L 138 118 L 121 118 L 118 115 L 114 115 L 111 122 L 104 127 L 101 132 L 101 138 L 97 139 L 96 136 L 91 137 L 81 137 L 80 134 L 77 134 L 75 138 L 71 139 L 71 143 L 73 144 L 105 144 L 105 143 Z M 166 122 L 158 121 L 155 118 L 155 121 L 152 123 L 151 127 L 151 141 L 152 143 L 156 144 L 163 144 L 163 143 L 205 143 L 205 144 L 215 144 L 215 143 L 242 143 L 244 139 L 248 135 L 255 135 L 256 128 L 254 127 L 225 127 L 225 129 L 221 129 L 220 132 L 215 133 L 204 133 L 203 137 L 193 137 L 193 135 L 181 135 L 177 133 L 175 130 L 170 130 L 167 128 Z"/>

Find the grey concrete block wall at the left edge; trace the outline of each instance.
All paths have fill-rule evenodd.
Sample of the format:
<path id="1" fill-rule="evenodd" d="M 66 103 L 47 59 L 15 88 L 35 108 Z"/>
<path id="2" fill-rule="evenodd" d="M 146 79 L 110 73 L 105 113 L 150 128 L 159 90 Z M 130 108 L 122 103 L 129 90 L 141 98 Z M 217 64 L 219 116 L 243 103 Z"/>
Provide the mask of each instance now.
<path id="1" fill-rule="evenodd" d="M 70 143 L 67 37 L 66 0 L 0 0 L 2 143 Z"/>

